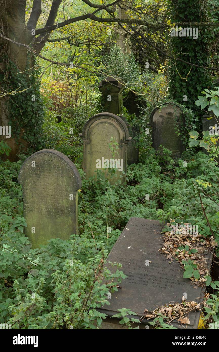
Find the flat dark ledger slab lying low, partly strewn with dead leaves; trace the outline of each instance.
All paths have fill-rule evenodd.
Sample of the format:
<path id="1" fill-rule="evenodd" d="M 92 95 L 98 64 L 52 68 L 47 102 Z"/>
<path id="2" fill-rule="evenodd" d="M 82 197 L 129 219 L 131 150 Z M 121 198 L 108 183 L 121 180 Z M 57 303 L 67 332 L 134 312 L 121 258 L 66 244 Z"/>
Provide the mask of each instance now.
<path id="1" fill-rule="evenodd" d="M 121 270 L 128 278 L 122 280 L 119 284 L 121 289 L 118 288 L 118 292 L 111 295 L 110 306 L 98 309 L 108 317 L 104 320 L 103 328 L 110 328 L 110 326 L 119 328 L 116 324 L 120 319 L 111 318 L 118 313 L 117 309 L 128 308 L 142 317 L 145 308 L 152 311 L 157 306 L 163 306 L 169 302 L 181 303 L 184 293 L 187 293 L 187 301 L 197 303 L 199 302 L 197 297 L 204 295 L 201 288 L 195 289 L 189 279 L 183 278 L 183 269 L 178 262 L 173 261 L 170 264 L 169 260 L 158 251 L 163 246 L 160 232 L 159 221 L 131 218 L 116 241 L 108 260 L 121 263 Z M 148 266 L 146 266 L 146 260 L 151 262 Z M 211 263 L 210 259 L 209 263 Z M 113 270 L 110 264 L 106 266 Z M 199 312 L 190 312 L 190 324 L 187 325 L 187 329 L 197 329 L 199 318 Z M 146 319 L 143 323 L 149 325 Z M 178 328 L 186 327 L 177 321 L 172 324 Z"/>

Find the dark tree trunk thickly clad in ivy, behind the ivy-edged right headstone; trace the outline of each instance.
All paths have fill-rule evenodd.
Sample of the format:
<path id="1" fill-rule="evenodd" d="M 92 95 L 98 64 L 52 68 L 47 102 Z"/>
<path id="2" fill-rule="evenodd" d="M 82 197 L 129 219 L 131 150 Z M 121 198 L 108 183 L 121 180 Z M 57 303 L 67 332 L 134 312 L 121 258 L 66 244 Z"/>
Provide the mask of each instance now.
<path id="1" fill-rule="evenodd" d="M 181 28 L 186 32 L 184 37 L 180 36 L 182 32 L 180 26 L 178 36 L 170 36 L 170 54 L 174 56 L 169 63 L 169 95 L 170 99 L 191 108 L 193 113 L 199 119 L 199 127 L 202 121 L 202 112 L 199 107 L 194 105 L 198 95 L 204 88 L 211 85 L 211 71 L 205 68 L 191 66 L 188 63 L 178 61 L 180 58 L 186 62 L 209 67 L 209 44 L 212 39 L 211 29 L 206 27 L 197 27 L 194 24 L 183 25 L 183 22 L 208 22 L 207 2 L 192 0 L 172 0 L 170 4 L 171 23 L 182 23 Z M 175 26 L 176 27 L 176 26 Z M 191 28 L 192 27 L 192 28 Z M 192 32 L 193 30 L 193 32 Z M 193 33 L 192 36 L 185 34 Z"/>

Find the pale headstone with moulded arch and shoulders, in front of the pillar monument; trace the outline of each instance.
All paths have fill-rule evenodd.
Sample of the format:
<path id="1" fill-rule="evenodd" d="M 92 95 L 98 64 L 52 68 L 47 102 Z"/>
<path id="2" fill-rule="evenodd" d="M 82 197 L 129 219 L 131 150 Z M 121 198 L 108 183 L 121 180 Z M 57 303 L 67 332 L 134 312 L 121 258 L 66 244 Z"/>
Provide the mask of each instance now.
<path id="1" fill-rule="evenodd" d="M 131 140 L 125 122 L 117 115 L 99 113 L 85 123 L 79 136 L 84 144 L 82 168 L 86 177 L 94 176 L 95 171 L 101 169 L 109 177 L 111 184 L 118 179 L 124 184 L 125 174 L 122 171 L 126 172 L 127 145 Z M 110 176 L 108 169 L 117 169 L 117 177 Z"/>

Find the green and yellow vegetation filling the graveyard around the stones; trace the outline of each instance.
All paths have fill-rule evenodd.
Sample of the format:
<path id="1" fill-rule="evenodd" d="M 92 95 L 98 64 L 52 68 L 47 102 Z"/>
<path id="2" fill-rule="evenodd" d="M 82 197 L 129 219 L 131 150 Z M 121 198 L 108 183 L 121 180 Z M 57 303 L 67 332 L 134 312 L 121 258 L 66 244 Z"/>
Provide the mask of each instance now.
<path id="1" fill-rule="evenodd" d="M 26 21 L 30 20 L 32 3 L 27 1 Z M 12 158 L 12 145 L 6 144 L 7 140 L 0 142 L 4 160 L 0 160 L 0 323 L 10 323 L 12 328 L 101 326 L 105 315 L 96 308 L 109 304 L 109 292 L 117 291 L 117 284 L 125 278 L 119 263 L 114 264 L 117 270 L 112 274 L 103 270 L 104 261 L 131 216 L 168 224 L 191 223 L 198 226 L 203 240 L 214 239 L 214 272 L 206 277 L 211 295 L 204 308 L 205 327 L 219 323 L 218 138 L 206 133 L 202 138 L 201 133 L 202 114 L 208 107 L 219 116 L 219 88 L 212 90 L 218 73 L 214 70 L 219 59 L 218 26 L 200 27 L 197 42 L 192 38 L 181 38 L 183 42 L 168 39 L 174 22 L 218 24 L 218 1 L 208 5 L 199 2 L 196 7 L 183 1 L 122 3 L 124 8 L 111 5 L 108 12 L 101 8 L 103 19 L 110 17 L 112 22 L 101 21 L 99 11 L 97 20 L 86 18 L 52 31 L 40 50 L 39 43 L 29 41 L 34 52 L 28 51 L 22 69 L 9 55 L 4 44 L 7 39 L 0 43 L 7 65 L 7 72 L 0 76 L 0 98 L 17 146 L 17 155 Z M 41 39 L 45 33 L 40 29 L 53 25 L 47 23 L 51 4 L 46 1 L 41 5 L 43 12 L 35 28 Z M 89 1 L 77 0 L 74 5 L 66 1 L 58 7 L 58 23 L 94 11 Z M 97 5 L 103 6 L 101 1 Z M 127 22 L 118 24 L 116 18 Z M 2 33 L 7 37 L 6 30 Z M 125 40 L 121 42 L 121 38 Z M 123 79 L 123 115 L 140 127 L 139 163 L 128 166 L 125 186 L 119 182 L 111 185 L 101 171 L 86 180 L 82 170 L 83 146 L 78 134 L 90 117 L 103 111 L 98 83 L 105 76 Z M 138 116 L 125 108 L 130 92 L 135 93 Z M 183 100 L 184 94 L 188 100 Z M 157 154 L 151 131 L 146 133 L 150 113 L 158 103 L 167 101 L 178 104 L 186 119 L 183 131 L 176 131 L 186 146 L 178 161 L 168 150 Z M 57 116 L 62 122 L 57 123 Z M 79 234 L 72 234 L 68 241 L 53 239 L 32 250 L 24 235 L 26 222 L 17 177 L 22 162 L 45 148 L 67 155 L 82 177 Z M 169 230 L 167 225 L 165 231 Z M 119 314 L 122 323 L 130 327 L 129 308 Z M 161 315 L 155 327 L 166 329 L 169 325 Z"/>

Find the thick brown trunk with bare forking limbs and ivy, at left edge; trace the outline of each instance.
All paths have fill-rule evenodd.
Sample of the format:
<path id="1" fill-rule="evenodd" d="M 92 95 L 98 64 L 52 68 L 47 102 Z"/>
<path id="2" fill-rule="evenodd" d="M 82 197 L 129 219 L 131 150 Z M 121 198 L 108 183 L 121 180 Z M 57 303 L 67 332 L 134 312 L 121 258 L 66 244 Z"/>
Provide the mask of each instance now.
<path id="1" fill-rule="evenodd" d="M 46 25 L 54 24 L 61 0 L 52 2 Z M 43 105 L 39 93 L 38 73 L 34 55 L 25 46 L 32 45 L 39 53 L 50 33 L 34 36 L 41 13 L 41 0 L 34 0 L 32 12 L 25 23 L 26 0 L 3 0 L 0 7 L 0 33 L 12 42 L 0 38 L 0 126 L 11 127 L 11 137 L 0 136 L 11 147 L 9 159 L 40 142 Z M 3 134 L 3 133 L 1 133 Z M 6 158 L 6 155 L 3 155 Z"/>

